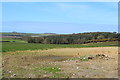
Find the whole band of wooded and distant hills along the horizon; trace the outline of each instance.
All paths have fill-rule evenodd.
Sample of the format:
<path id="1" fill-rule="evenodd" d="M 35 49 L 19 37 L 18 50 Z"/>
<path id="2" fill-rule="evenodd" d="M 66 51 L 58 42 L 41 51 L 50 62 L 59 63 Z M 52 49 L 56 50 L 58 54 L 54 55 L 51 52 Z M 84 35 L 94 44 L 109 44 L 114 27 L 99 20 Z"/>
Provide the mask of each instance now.
<path id="1" fill-rule="evenodd" d="M 120 39 L 120 34 L 116 32 L 86 32 L 74 34 L 3 32 L 0 34 L 2 34 L 0 37 L 3 38 L 4 41 L 16 41 L 15 39 L 19 39 L 27 41 L 28 43 L 42 44 L 85 44 L 91 42 L 118 41 Z"/>

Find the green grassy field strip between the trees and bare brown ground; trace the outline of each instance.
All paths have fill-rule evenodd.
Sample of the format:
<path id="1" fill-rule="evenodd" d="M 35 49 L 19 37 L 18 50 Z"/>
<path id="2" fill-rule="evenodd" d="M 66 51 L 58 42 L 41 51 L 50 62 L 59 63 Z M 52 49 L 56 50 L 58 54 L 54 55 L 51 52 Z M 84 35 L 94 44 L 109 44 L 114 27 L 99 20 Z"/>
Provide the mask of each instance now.
<path id="1" fill-rule="evenodd" d="M 52 48 L 82 48 L 82 47 L 110 47 L 118 46 L 118 42 L 102 42 L 89 44 L 35 44 L 24 42 L 3 42 L 2 52 L 22 51 L 22 50 L 45 50 Z"/>

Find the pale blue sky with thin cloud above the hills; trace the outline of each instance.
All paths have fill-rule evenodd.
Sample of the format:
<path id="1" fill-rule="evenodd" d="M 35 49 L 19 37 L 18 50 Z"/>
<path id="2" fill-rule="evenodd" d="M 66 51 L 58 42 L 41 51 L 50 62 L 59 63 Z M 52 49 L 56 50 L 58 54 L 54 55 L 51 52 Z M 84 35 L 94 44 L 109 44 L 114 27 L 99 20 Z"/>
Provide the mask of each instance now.
<path id="1" fill-rule="evenodd" d="M 117 2 L 3 2 L 2 31 L 117 32 Z"/>

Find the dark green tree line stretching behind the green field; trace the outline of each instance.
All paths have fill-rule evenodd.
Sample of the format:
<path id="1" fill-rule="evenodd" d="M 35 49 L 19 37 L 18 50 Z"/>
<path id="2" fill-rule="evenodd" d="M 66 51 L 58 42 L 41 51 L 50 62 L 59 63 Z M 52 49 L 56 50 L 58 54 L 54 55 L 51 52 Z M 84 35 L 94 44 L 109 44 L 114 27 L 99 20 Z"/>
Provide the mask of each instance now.
<path id="1" fill-rule="evenodd" d="M 69 35 L 52 35 L 43 37 L 25 37 L 28 43 L 41 44 L 85 44 L 91 42 L 118 41 L 119 33 L 116 32 L 90 32 Z"/>

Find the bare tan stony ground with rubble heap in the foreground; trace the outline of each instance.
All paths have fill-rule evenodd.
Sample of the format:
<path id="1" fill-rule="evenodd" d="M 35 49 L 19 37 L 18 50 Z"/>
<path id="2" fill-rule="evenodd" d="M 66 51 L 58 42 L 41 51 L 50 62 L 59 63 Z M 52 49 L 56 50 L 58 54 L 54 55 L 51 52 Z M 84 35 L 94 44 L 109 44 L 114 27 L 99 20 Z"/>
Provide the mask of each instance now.
<path id="1" fill-rule="evenodd" d="M 3 77 L 118 77 L 118 47 L 6 52 L 3 53 L 2 61 Z"/>

